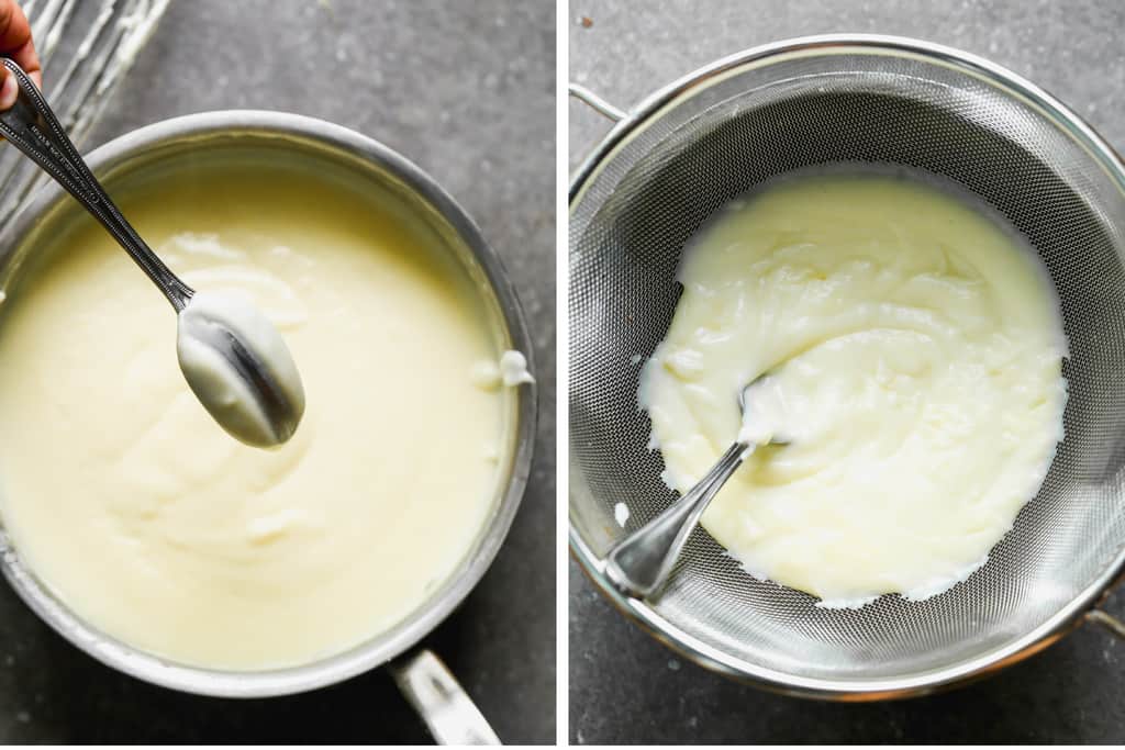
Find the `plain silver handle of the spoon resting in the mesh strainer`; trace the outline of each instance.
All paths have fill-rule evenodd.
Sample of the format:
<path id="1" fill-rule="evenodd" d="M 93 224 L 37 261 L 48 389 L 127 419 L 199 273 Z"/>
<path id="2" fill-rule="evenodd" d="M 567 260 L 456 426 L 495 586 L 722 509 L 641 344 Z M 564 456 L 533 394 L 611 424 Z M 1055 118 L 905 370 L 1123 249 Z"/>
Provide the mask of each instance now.
<path id="1" fill-rule="evenodd" d="M 753 451 L 747 443 L 731 445 L 686 495 L 618 542 L 605 560 L 610 581 L 622 594 L 638 599 L 660 588 L 703 510 Z"/>

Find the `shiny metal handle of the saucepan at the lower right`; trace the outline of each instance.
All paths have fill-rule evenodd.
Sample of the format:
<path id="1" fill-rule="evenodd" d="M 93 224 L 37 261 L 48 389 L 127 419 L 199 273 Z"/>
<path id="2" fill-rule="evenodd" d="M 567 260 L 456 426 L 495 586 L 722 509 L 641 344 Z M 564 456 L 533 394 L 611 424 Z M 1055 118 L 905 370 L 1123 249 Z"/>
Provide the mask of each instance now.
<path id="1" fill-rule="evenodd" d="M 500 744 L 500 738 L 441 659 L 423 649 L 390 663 L 398 689 L 439 744 Z"/>

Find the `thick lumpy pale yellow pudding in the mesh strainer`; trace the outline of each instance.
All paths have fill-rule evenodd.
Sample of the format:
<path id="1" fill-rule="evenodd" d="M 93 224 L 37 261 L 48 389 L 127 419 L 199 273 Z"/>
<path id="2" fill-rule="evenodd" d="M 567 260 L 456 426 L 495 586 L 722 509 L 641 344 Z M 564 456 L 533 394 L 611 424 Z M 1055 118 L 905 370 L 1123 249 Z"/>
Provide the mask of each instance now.
<path id="1" fill-rule="evenodd" d="M 771 372 L 788 445 L 754 452 L 704 527 L 755 577 L 825 606 L 926 598 L 988 559 L 1062 440 L 1050 279 L 998 217 L 904 175 L 790 175 L 685 250 L 639 400 L 681 493 Z M 778 416 L 780 415 L 780 416 Z"/>

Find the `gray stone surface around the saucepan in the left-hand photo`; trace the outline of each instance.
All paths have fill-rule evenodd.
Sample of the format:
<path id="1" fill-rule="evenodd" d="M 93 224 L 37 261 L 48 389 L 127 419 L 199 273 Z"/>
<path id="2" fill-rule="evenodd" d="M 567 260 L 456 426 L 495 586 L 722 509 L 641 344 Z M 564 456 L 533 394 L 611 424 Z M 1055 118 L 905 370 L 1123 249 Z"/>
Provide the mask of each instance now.
<path id="1" fill-rule="evenodd" d="M 172 3 L 91 141 L 208 109 L 313 115 L 400 151 L 476 218 L 530 318 L 539 440 L 507 543 L 428 643 L 507 742 L 555 739 L 554 91 L 549 2 L 184 0 Z M 102 667 L 0 585 L 0 741 L 429 737 L 385 671 L 287 698 L 188 696 Z"/>

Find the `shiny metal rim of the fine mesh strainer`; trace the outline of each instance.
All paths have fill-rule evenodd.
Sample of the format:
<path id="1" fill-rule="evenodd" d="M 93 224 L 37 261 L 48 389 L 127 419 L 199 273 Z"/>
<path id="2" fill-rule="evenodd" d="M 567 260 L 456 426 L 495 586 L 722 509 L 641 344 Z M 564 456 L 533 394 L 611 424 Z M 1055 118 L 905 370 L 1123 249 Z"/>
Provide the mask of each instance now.
<path id="1" fill-rule="evenodd" d="M 937 61 L 996 84 L 1008 96 L 1029 101 L 1099 162 L 1118 190 L 1125 193 L 1125 164 L 1113 146 L 1062 101 L 1007 67 L 972 53 L 922 39 L 882 34 L 822 34 L 773 42 L 727 55 L 645 97 L 627 111 L 626 117 L 619 120 L 602 138 L 572 175 L 568 196 L 570 215 L 574 215 L 585 186 L 596 177 L 600 168 L 608 162 L 608 157 L 615 150 L 627 143 L 638 128 L 657 119 L 665 109 L 678 103 L 682 98 L 694 96 L 700 87 L 705 87 L 712 79 L 738 73 L 750 64 L 768 61 L 772 57 L 810 49 L 824 49 L 827 54 L 840 54 L 848 48 L 860 52 L 867 51 L 868 54 L 873 49 L 906 53 L 924 60 Z M 573 453 L 570 469 L 573 473 L 575 470 Z M 596 588 L 618 609 L 638 623 L 645 632 L 657 641 L 704 668 L 727 677 L 748 681 L 757 687 L 801 697 L 836 701 L 904 698 L 925 695 L 944 687 L 984 677 L 1045 649 L 1080 625 L 1086 613 L 1097 605 L 1100 597 L 1125 572 L 1125 548 L 1123 548 L 1090 585 L 1060 607 L 1045 622 L 1014 641 L 946 667 L 890 678 L 825 679 L 807 677 L 770 669 L 745 659 L 731 657 L 677 627 L 648 603 L 622 595 L 605 578 L 604 561 L 594 554 L 578 535 L 573 512 L 575 500 L 573 491 L 569 494 L 569 500 L 572 503 L 569 514 L 572 554 L 587 577 L 594 581 Z"/>

